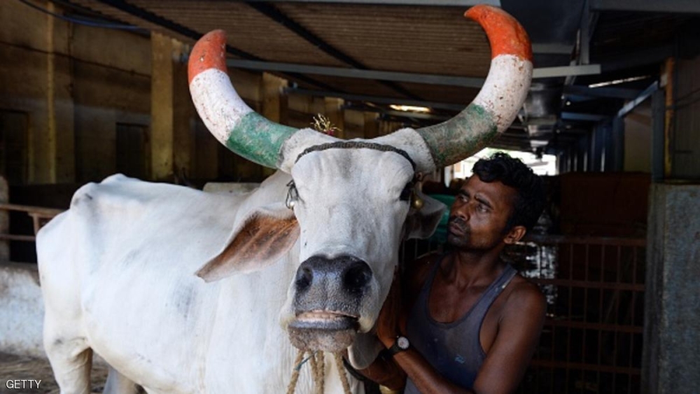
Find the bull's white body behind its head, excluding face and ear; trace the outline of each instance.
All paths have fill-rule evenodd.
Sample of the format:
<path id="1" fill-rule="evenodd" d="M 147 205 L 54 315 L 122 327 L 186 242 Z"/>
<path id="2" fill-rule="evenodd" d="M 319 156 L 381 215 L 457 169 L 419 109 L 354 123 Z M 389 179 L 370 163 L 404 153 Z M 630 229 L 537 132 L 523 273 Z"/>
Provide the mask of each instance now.
<path id="1" fill-rule="evenodd" d="M 225 244 L 241 204 L 283 201 L 288 181 L 273 176 L 246 202 L 124 176 L 85 185 L 38 235 L 47 350 L 90 347 L 150 393 L 283 391 L 296 349 L 279 312 L 298 246 L 258 272 L 214 283 L 194 273 Z M 59 340 L 71 346 L 56 349 Z M 326 391 L 339 393 L 330 360 Z M 297 385 L 311 392 L 308 368 Z"/>

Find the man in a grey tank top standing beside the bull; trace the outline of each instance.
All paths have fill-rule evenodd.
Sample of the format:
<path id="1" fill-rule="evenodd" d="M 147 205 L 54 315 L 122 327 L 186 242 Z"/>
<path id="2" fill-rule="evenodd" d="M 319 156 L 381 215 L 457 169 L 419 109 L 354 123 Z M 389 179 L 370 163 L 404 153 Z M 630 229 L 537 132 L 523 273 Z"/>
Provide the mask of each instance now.
<path id="1" fill-rule="evenodd" d="M 385 386 L 405 374 L 405 393 L 510 393 L 538 343 L 544 297 L 499 255 L 537 222 L 542 180 L 505 153 L 474 173 L 450 209 L 449 252 L 407 267 L 406 297 L 395 283 L 381 311 L 388 351 L 364 372 Z"/>

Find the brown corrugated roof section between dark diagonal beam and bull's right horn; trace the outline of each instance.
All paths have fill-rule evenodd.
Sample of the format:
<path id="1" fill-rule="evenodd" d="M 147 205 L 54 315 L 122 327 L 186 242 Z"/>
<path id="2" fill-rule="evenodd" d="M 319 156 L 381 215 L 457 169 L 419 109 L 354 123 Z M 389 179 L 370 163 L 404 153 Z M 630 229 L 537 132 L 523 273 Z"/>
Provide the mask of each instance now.
<path id="1" fill-rule="evenodd" d="M 491 49 L 461 8 L 280 3 L 279 10 L 370 69 L 486 76 Z"/>

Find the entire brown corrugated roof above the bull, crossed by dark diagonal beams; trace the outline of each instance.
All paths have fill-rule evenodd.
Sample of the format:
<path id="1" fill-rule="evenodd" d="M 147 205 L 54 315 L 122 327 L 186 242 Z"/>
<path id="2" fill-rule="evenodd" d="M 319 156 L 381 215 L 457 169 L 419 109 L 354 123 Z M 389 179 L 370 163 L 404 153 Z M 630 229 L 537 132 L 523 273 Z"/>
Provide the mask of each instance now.
<path id="1" fill-rule="evenodd" d="M 73 3 L 186 43 L 194 42 L 189 36 L 99 1 Z M 128 4 L 199 34 L 224 29 L 230 46 L 267 62 L 351 66 L 245 2 L 130 0 Z M 330 3 L 276 3 L 272 7 L 367 69 L 470 77 L 484 77 L 489 71 L 491 55 L 486 35 L 475 22 L 463 17 L 461 8 Z M 346 92 L 397 94 L 388 84 L 372 80 L 344 83 L 338 78 L 311 78 L 332 86 L 346 85 Z"/>

